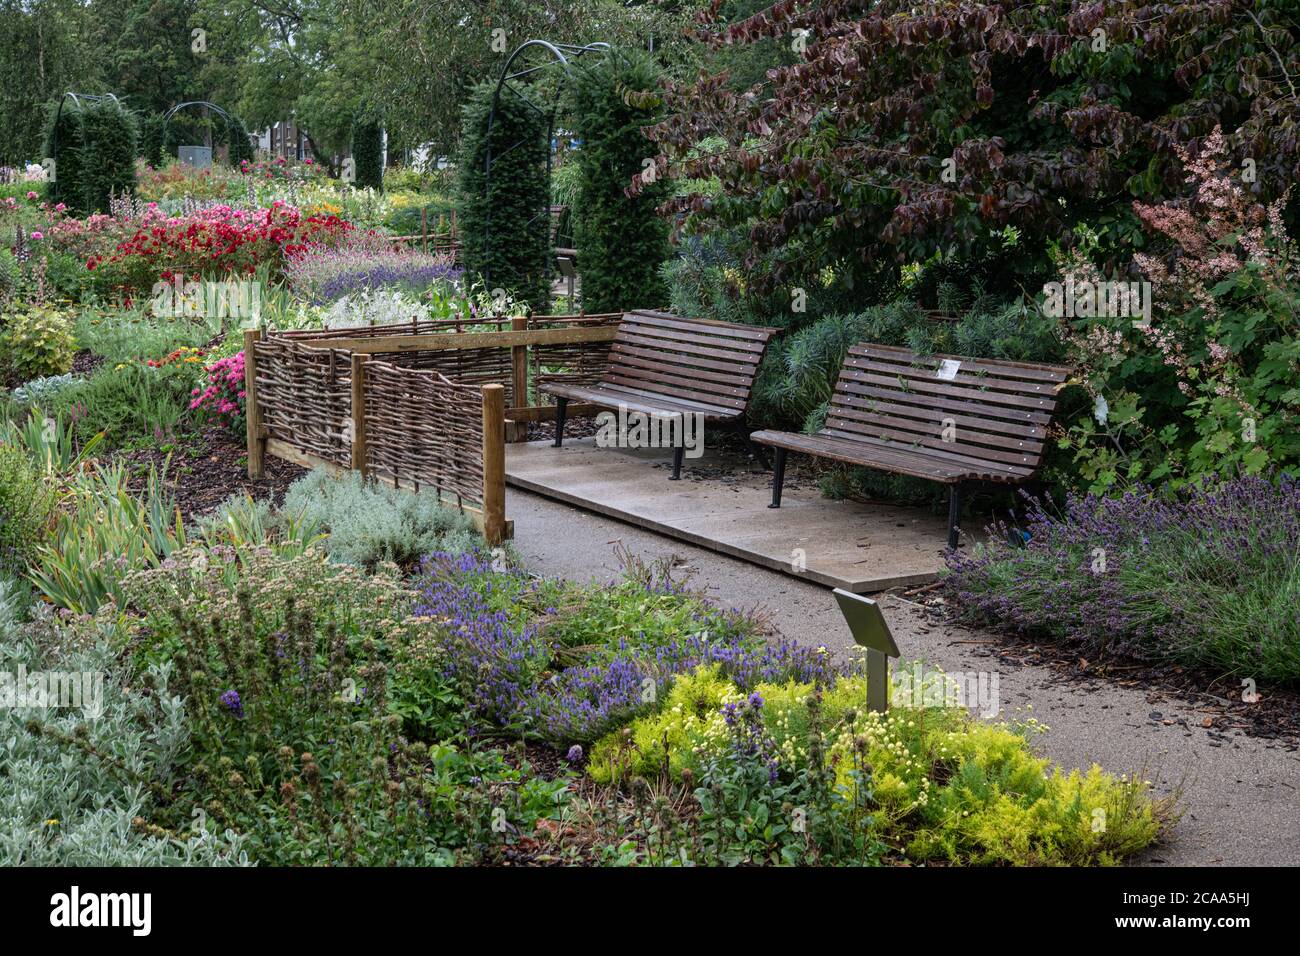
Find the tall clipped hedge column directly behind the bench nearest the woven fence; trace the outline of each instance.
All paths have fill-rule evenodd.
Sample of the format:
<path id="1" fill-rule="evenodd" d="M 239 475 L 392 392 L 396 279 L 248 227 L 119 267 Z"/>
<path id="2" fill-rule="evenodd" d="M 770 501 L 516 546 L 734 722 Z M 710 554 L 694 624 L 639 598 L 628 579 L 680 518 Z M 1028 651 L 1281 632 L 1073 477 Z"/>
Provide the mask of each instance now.
<path id="1" fill-rule="evenodd" d="M 573 114 L 581 148 L 573 153 L 578 187 L 573 239 L 589 312 L 659 308 L 668 291 L 659 267 L 668 256 L 668 224 L 655 212 L 662 179 L 638 195 L 624 190 L 658 148 L 641 131 L 663 114 L 659 69 L 640 51 L 610 51 L 573 77 Z"/>

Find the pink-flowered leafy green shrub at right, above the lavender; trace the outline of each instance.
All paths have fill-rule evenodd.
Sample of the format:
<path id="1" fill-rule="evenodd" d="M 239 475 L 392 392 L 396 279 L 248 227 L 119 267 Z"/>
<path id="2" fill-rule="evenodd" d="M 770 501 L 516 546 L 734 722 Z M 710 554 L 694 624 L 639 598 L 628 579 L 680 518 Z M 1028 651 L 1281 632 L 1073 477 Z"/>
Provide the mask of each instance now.
<path id="1" fill-rule="evenodd" d="M 1134 203 L 1150 238 L 1134 258 L 1149 321 L 1088 317 L 1069 336 L 1093 403 L 1062 444 L 1093 492 L 1300 464 L 1300 259 L 1286 198 L 1260 204 L 1218 130 L 1196 155 L 1175 148 L 1190 195 Z M 1104 277 L 1076 256 L 1065 278 Z"/>

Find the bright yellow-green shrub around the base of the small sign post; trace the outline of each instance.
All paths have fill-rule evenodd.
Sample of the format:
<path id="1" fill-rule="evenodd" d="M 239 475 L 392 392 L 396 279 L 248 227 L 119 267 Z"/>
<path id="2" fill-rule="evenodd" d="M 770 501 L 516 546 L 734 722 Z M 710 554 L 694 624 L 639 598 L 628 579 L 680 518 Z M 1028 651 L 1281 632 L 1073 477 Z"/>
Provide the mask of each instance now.
<path id="1" fill-rule="evenodd" d="M 807 769 L 814 734 L 835 788 L 871 808 L 871 829 L 913 860 L 956 864 L 1112 864 L 1149 845 L 1170 817 L 1149 786 L 1092 766 L 1063 773 L 1034 754 L 1022 726 L 987 723 L 959 708 L 866 710 L 866 682 L 823 688 L 812 727 L 810 684 L 759 684 L 763 722 L 783 779 Z M 697 778 L 729 743 L 722 708 L 745 695 L 716 667 L 677 678 L 663 708 L 595 744 L 598 782 L 658 775 Z M 868 787 L 868 795 L 857 793 Z"/>

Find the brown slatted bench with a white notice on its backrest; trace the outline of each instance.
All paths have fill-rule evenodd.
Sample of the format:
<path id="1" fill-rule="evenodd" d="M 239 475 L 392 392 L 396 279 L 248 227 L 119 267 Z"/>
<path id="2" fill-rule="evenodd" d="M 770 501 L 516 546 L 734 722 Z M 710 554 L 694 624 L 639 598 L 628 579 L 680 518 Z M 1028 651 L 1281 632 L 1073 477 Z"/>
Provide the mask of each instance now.
<path id="1" fill-rule="evenodd" d="M 962 485 L 1034 475 L 1069 376 L 1061 365 L 855 345 L 820 432 L 750 436 L 776 449 L 768 507 L 781 506 L 788 451 L 930 479 L 952 488 L 948 546 L 956 548 Z"/>

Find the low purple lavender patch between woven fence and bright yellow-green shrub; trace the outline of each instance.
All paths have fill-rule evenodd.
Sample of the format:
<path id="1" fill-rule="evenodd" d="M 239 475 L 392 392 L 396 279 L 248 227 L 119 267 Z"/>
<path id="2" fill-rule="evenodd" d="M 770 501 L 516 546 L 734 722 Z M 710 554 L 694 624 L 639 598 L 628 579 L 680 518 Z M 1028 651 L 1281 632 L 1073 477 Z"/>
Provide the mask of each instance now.
<path id="1" fill-rule="evenodd" d="M 815 649 L 768 645 L 757 622 L 666 576 L 566 585 L 465 553 L 430 557 L 420 587 L 417 613 L 439 623 L 481 730 L 585 743 L 653 710 L 672 675 L 701 665 L 746 687 L 835 672 Z"/>

